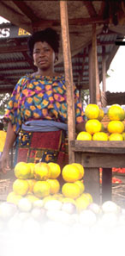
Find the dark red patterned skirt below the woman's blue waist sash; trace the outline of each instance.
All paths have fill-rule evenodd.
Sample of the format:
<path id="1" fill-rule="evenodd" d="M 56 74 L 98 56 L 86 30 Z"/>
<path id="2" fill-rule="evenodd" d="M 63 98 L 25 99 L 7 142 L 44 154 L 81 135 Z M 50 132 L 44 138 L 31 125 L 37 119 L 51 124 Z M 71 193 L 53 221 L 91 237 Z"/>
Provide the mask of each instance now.
<path id="1" fill-rule="evenodd" d="M 17 143 L 17 162 L 54 162 L 61 166 L 68 164 L 68 138 L 62 130 L 56 132 L 28 132 L 21 130 Z"/>

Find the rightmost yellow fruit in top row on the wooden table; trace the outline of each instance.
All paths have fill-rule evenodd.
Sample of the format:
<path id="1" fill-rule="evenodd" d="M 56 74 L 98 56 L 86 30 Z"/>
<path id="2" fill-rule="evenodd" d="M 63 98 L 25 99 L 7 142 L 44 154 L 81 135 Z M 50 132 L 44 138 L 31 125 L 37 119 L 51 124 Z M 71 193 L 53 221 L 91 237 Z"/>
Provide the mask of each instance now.
<path id="1" fill-rule="evenodd" d="M 110 121 L 123 121 L 125 118 L 125 112 L 120 105 L 114 104 L 108 109 L 107 116 L 109 117 Z"/>

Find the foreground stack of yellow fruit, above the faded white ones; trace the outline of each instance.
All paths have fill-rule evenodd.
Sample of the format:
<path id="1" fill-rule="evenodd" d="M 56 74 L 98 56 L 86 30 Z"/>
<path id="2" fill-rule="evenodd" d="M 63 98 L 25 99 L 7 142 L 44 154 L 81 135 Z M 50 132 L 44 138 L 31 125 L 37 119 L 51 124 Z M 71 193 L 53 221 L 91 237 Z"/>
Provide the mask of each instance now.
<path id="1" fill-rule="evenodd" d="M 62 187 L 58 179 L 60 175 L 64 181 Z M 83 176 L 84 168 L 77 163 L 65 165 L 61 173 L 60 165 L 56 163 L 19 162 L 15 165 L 16 179 L 7 202 L 15 203 L 25 211 L 42 204 L 45 209 L 78 212 L 92 203 L 92 196 L 84 192 Z"/>

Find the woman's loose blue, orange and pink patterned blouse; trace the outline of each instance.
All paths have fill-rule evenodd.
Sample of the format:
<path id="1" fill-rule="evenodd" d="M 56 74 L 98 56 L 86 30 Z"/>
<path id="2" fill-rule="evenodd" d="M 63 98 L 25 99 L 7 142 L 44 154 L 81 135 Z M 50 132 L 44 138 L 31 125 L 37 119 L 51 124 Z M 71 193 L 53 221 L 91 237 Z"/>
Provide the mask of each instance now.
<path id="1" fill-rule="evenodd" d="M 75 122 L 84 122 L 79 91 L 74 86 Z M 63 76 L 22 77 L 10 97 L 5 119 L 16 134 L 29 120 L 53 120 L 67 123 L 66 85 Z"/>

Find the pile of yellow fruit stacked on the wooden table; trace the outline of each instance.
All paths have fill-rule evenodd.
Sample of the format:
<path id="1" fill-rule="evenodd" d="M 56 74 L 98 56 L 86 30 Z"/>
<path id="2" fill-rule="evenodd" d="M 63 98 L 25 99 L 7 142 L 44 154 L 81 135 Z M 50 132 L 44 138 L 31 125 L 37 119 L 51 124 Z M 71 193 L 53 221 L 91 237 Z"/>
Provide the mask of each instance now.
<path id="1" fill-rule="evenodd" d="M 110 106 L 107 116 L 110 120 L 104 128 L 104 110 L 97 104 L 88 104 L 85 109 L 86 131 L 77 135 L 77 140 L 124 140 L 124 109 L 118 104 Z"/>

